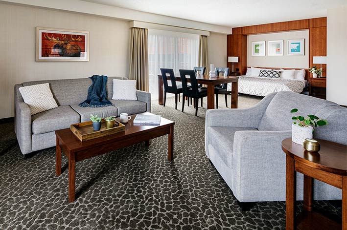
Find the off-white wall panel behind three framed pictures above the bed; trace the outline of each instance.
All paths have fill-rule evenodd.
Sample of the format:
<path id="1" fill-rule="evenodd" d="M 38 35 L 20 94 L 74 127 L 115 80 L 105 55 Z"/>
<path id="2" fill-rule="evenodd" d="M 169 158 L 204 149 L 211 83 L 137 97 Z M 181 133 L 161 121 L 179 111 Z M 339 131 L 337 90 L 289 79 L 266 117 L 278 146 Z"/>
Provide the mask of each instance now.
<path id="1" fill-rule="evenodd" d="M 305 39 L 305 55 L 287 55 L 288 39 Z M 284 40 L 283 56 L 268 56 L 268 41 Z M 252 56 L 252 42 L 265 41 L 265 56 Z M 247 36 L 247 66 L 308 68 L 309 65 L 309 32 L 308 30 L 281 33 L 257 34 Z"/>

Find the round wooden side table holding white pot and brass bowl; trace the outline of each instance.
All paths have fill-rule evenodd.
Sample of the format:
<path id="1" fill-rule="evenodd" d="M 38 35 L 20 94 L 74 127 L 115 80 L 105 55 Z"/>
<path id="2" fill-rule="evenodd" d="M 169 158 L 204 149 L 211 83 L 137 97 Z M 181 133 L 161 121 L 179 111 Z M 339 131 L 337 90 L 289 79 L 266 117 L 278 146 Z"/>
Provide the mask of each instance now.
<path id="1" fill-rule="evenodd" d="M 282 141 L 286 154 L 286 230 L 347 230 L 347 146 L 317 140 L 319 152 L 309 152 L 291 138 Z M 296 172 L 303 176 L 303 212 L 296 217 Z M 312 211 L 313 178 L 342 189 L 342 226 Z"/>

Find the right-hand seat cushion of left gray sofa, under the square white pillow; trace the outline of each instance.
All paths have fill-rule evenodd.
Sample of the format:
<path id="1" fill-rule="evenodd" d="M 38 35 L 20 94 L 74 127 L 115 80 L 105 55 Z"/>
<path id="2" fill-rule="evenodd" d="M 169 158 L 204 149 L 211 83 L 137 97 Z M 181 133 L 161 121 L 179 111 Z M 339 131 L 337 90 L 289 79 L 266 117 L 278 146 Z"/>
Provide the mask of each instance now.
<path id="1" fill-rule="evenodd" d="M 110 102 L 115 105 L 118 109 L 118 116 L 121 113 L 127 114 L 137 114 L 147 111 L 147 104 L 141 101 L 132 100 L 110 100 Z"/>

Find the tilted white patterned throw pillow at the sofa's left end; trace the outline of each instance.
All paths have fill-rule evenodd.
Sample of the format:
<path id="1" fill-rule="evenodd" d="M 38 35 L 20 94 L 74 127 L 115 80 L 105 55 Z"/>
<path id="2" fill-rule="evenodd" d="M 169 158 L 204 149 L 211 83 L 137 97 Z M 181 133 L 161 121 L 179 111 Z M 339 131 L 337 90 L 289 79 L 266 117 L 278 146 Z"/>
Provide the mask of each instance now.
<path id="1" fill-rule="evenodd" d="M 58 107 L 48 83 L 23 86 L 19 88 L 19 91 L 24 102 L 29 106 L 31 115 Z"/>

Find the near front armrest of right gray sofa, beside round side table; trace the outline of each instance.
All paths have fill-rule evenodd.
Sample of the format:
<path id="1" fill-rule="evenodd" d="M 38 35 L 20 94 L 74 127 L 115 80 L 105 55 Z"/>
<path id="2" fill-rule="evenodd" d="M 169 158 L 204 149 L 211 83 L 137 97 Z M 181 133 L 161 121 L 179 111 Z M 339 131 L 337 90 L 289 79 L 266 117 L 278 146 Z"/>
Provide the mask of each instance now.
<path id="1" fill-rule="evenodd" d="M 237 131 L 234 136 L 232 174 L 240 202 L 285 200 L 286 131 Z"/>

